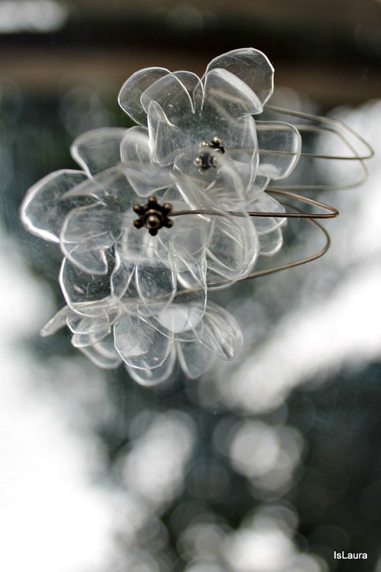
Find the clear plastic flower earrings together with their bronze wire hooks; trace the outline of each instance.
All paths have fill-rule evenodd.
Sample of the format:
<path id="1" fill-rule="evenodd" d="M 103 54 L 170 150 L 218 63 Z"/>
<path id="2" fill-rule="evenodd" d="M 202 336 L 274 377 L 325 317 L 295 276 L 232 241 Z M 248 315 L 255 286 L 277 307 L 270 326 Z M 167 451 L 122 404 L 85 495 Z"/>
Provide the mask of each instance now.
<path id="1" fill-rule="evenodd" d="M 273 75 L 254 48 L 216 57 L 201 79 L 138 71 L 119 102 L 139 125 L 82 134 L 71 147 L 82 170 L 53 172 L 28 190 L 21 221 L 63 254 L 67 305 L 42 335 L 67 325 L 73 346 L 96 365 L 124 363 L 146 385 L 167 379 L 176 356 L 188 377 L 215 357 L 233 359 L 242 335 L 209 291 L 322 256 L 330 239 L 317 219 L 338 213 L 294 191 L 359 184 L 373 154 L 342 123 L 267 105 Z M 254 120 L 263 112 L 267 120 Z M 315 139 L 316 152 L 304 151 L 303 136 Z M 319 148 L 327 139 L 337 154 Z M 321 185 L 303 181 L 312 172 L 303 168 L 302 182 L 287 184 L 313 160 L 352 161 L 360 177 Z M 256 270 L 258 256 L 281 249 L 282 225 L 293 217 L 324 233 L 324 247 Z"/>

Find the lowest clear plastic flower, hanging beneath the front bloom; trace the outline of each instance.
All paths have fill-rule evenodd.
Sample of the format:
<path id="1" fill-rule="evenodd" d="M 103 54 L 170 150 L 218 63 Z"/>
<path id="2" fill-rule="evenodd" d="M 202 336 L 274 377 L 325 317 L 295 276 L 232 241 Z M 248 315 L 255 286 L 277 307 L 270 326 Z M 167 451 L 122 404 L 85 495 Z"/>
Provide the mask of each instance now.
<path id="1" fill-rule="evenodd" d="M 119 314 L 118 314 L 119 312 Z M 176 356 L 184 373 L 199 377 L 217 357 L 233 359 L 242 343 L 240 328 L 222 307 L 208 303 L 200 290 L 178 295 L 156 316 L 121 314 L 80 316 L 65 306 L 42 330 L 43 336 L 68 325 L 71 343 L 97 366 L 124 364 L 136 382 L 159 384 L 170 377 Z"/>

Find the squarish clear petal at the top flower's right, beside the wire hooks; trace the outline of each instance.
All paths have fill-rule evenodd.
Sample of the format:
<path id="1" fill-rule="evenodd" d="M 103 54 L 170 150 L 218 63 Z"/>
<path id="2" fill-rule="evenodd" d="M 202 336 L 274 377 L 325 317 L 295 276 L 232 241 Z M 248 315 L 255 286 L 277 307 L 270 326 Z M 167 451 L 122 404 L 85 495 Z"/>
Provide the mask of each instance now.
<path id="1" fill-rule="evenodd" d="M 301 135 L 283 121 L 257 121 L 260 169 L 272 179 L 288 177 L 301 154 Z"/>

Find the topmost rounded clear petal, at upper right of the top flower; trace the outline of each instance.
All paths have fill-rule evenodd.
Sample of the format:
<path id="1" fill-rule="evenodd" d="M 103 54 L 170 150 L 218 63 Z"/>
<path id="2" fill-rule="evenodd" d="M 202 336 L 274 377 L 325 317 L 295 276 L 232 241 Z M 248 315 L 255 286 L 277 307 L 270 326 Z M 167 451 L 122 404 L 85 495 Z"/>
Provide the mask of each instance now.
<path id="1" fill-rule="evenodd" d="M 218 55 L 210 62 L 206 73 L 216 68 L 226 69 L 237 75 L 256 93 L 263 104 L 272 96 L 274 68 L 261 51 L 254 48 L 240 48 Z"/>

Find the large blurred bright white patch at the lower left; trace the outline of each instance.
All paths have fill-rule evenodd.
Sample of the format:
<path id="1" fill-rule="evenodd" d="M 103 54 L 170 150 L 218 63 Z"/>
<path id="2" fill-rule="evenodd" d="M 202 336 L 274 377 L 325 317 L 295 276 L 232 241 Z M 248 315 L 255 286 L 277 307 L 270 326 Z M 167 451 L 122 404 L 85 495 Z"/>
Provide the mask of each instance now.
<path id="1" fill-rule="evenodd" d="M 0 569 L 97 571 L 109 562 L 118 520 L 113 499 L 89 483 L 103 458 L 91 434 L 69 428 L 64 405 L 40 391 L 48 375 L 60 384 L 68 373 L 49 371 L 24 347 L 53 303 L 2 237 L 0 246 Z"/>

